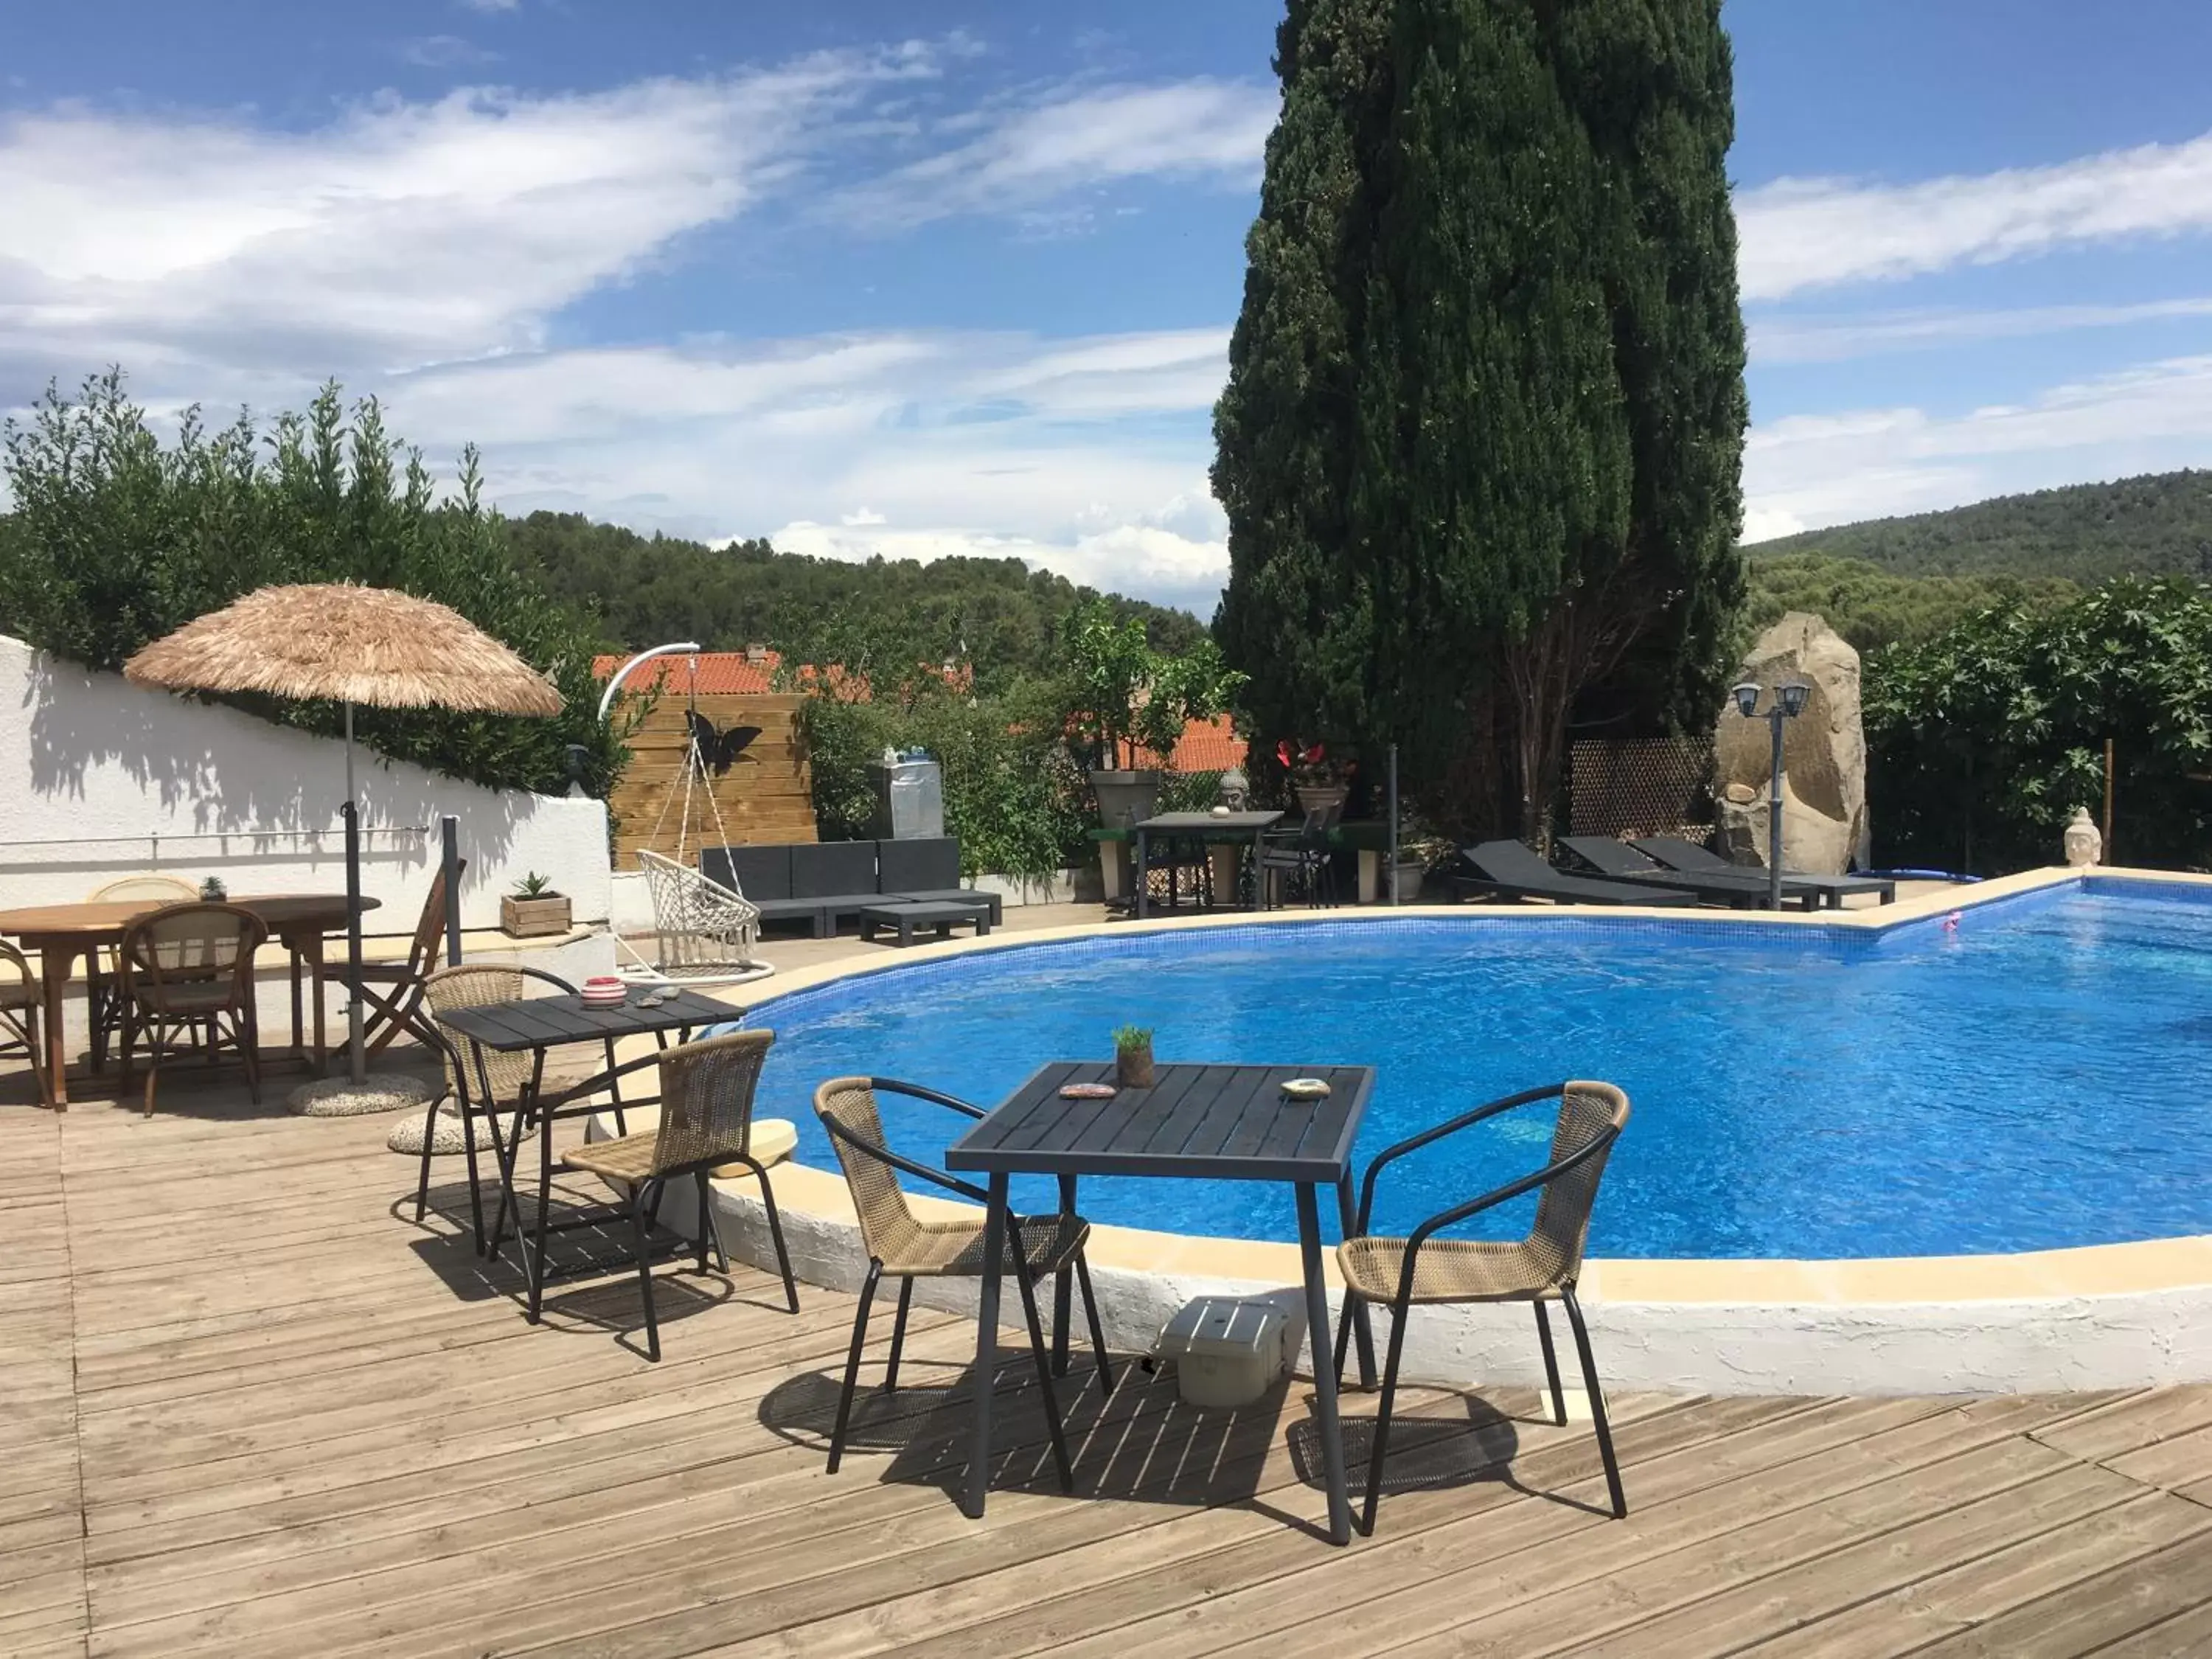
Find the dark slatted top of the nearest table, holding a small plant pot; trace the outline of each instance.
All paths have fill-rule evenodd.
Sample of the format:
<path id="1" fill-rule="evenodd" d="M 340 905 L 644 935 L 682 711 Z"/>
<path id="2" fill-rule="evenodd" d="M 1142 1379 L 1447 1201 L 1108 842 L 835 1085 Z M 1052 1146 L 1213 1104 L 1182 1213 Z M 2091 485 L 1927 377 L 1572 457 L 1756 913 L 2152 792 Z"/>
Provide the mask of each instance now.
<path id="1" fill-rule="evenodd" d="M 984 1175 L 1183 1175 L 1225 1181 L 1338 1181 L 1374 1088 L 1374 1066 L 1157 1066 L 1150 1088 L 1062 1099 L 1110 1084 L 1113 1062 L 1055 1060 L 945 1152 Z M 1323 1099 L 1290 1099 L 1321 1077 Z"/>

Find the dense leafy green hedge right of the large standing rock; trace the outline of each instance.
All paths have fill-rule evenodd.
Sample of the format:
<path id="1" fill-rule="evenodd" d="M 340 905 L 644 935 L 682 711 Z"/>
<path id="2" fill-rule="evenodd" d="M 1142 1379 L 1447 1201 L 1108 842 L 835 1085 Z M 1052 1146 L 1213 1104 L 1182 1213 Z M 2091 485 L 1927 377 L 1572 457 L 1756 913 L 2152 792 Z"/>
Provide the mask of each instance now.
<path id="1" fill-rule="evenodd" d="M 2104 801 L 2115 854 L 2212 863 L 2212 591 L 2121 577 L 2066 606 L 2004 604 L 1867 661 L 1878 856 L 1991 874 L 2048 865 Z"/>

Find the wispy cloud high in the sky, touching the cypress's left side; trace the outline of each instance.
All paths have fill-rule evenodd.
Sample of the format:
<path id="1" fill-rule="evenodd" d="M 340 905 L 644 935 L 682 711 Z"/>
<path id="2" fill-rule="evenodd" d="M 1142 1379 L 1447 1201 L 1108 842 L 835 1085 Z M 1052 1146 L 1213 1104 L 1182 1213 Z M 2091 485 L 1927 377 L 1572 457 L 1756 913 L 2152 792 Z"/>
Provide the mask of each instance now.
<path id="1" fill-rule="evenodd" d="M 980 124 L 980 137 L 841 190 L 827 212 L 869 230 L 905 230 L 953 215 L 1024 215 L 1137 177 L 1256 184 L 1274 115 L 1274 88 L 1248 82 L 1062 91 L 971 115 L 958 126 Z M 1066 228 L 1068 212 L 1031 223 Z"/>

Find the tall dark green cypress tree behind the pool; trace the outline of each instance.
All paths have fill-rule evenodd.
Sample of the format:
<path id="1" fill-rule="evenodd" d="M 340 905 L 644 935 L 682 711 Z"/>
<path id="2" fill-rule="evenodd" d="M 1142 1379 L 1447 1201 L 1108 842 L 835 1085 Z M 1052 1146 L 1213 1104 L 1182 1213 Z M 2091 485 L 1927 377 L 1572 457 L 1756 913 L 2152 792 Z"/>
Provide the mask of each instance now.
<path id="1" fill-rule="evenodd" d="M 1577 706 L 1686 712 L 1741 602 L 1719 4 L 1294 0 L 1276 66 L 1223 648 L 1263 739 L 1542 834 Z"/>

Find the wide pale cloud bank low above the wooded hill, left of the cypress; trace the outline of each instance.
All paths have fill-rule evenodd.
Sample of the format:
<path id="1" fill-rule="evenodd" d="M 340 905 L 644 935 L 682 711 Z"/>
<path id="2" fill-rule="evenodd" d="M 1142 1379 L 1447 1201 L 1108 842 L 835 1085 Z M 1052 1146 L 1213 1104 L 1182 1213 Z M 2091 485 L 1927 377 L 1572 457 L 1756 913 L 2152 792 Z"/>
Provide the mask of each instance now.
<path id="1" fill-rule="evenodd" d="M 869 334 L 518 352 L 396 376 L 392 425 L 482 445 L 491 498 L 827 557 L 1022 557 L 1212 611 L 1223 330 Z M 365 387 L 363 387 L 365 389 Z"/>

